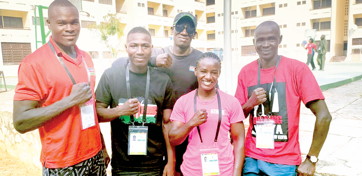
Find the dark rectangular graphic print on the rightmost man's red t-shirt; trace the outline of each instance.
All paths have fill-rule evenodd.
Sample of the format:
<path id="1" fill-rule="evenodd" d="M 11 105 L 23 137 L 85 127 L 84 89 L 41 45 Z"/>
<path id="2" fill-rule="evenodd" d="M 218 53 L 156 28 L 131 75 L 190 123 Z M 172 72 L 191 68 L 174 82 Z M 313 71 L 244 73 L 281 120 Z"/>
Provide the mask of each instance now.
<path id="1" fill-rule="evenodd" d="M 250 99 L 253 91 L 258 87 L 263 87 L 266 91 L 266 98 L 261 108 L 255 106 L 254 109 L 250 112 L 250 119 L 252 120 L 252 130 L 251 134 L 253 137 L 256 137 L 257 131 L 255 131 L 256 122 L 268 118 L 268 114 L 271 113 L 269 119 L 274 121 L 274 141 L 275 142 L 288 142 L 288 109 L 286 101 L 286 86 L 285 82 L 276 82 L 273 86 L 273 91 L 270 91 L 272 83 L 261 84 L 260 86 L 250 86 L 248 87 L 248 99 Z M 274 87 L 276 90 L 274 90 Z M 271 96 L 270 96 L 271 95 Z M 271 98 L 269 98 L 271 97 Z M 274 101 L 275 100 L 275 101 Z M 269 102 L 271 102 L 269 104 Z M 275 104 L 274 104 L 274 103 Z M 277 107 L 277 108 L 276 108 Z M 259 113 L 263 116 L 259 117 Z M 266 116 L 264 116 L 266 115 Z"/>

